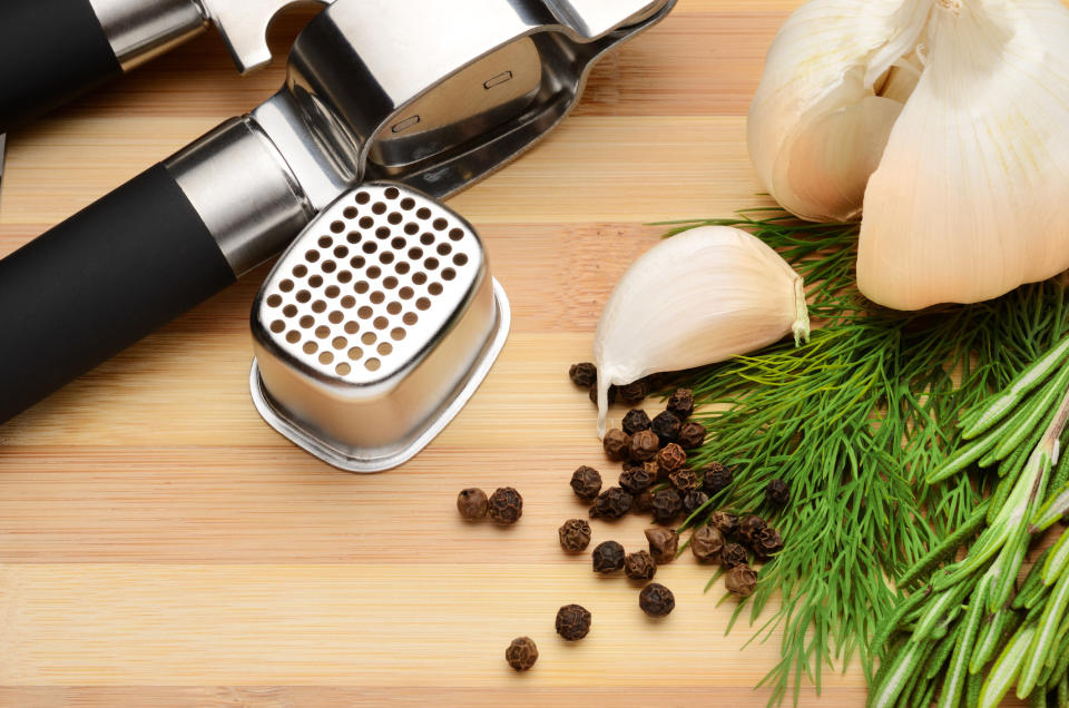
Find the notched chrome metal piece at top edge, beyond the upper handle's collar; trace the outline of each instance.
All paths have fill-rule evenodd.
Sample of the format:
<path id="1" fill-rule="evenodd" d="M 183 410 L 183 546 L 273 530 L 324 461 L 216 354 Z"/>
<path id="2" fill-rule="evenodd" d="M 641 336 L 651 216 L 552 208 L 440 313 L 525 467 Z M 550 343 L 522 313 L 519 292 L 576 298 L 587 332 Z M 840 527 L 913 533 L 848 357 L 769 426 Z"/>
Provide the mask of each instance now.
<path id="1" fill-rule="evenodd" d="M 285 8 L 302 0 L 200 0 L 205 13 L 223 35 L 234 63 L 247 73 L 271 63 L 267 29 Z M 327 4 L 331 0 L 303 0 Z"/>

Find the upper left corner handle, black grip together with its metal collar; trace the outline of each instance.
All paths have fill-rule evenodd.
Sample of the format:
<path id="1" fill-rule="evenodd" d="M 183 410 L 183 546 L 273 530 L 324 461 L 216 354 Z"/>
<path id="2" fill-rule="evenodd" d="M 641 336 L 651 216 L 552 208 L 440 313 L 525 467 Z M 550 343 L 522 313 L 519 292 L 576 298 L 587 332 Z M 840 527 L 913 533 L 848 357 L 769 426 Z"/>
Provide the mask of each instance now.
<path id="1" fill-rule="evenodd" d="M 0 132 L 118 78 L 206 27 L 195 0 L 3 0 Z"/>

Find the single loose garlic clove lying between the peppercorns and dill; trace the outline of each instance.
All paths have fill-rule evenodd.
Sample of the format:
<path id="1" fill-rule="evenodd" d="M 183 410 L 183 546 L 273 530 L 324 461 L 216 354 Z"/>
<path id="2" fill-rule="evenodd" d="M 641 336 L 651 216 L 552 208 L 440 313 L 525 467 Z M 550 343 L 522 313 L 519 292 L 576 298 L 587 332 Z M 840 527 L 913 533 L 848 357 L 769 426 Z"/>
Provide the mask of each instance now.
<path id="1" fill-rule="evenodd" d="M 643 254 L 609 296 L 594 342 L 598 436 L 610 385 L 720 362 L 790 333 L 808 340 L 802 278 L 759 238 L 703 226 Z"/>

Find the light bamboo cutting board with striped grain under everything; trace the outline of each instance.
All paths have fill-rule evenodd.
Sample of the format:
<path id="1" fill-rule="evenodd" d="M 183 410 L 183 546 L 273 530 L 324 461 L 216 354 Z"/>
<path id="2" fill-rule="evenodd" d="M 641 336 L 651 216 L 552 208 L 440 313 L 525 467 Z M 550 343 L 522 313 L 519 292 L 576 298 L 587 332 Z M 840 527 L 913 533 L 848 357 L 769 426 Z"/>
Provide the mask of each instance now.
<path id="1" fill-rule="evenodd" d="M 617 473 L 568 364 L 589 358 L 601 303 L 663 232 L 644 224 L 767 203 L 745 111 L 796 4 L 680 0 L 597 69 L 559 131 L 451 201 L 486 240 L 512 334 L 403 468 L 345 474 L 261 421 L 247 318 L 266 269 L 0 427 L 0 705 L 764 705 L 752 687 L 778 636 L 745 650 L 753 630 L 725 637 L 734 603 L 703 593 L 710 569 L 661 568 L 677 609 L 653 621 L 636 586 L 594 577 L 556 530 L 585 515 L 576 466 Z M 279 53 L 308 17 L 278 23 Z M 241 79 L 208 36 L 16 132 L 0 255 L 257 105 L 282 72 Z M 518 488 L 521 522 L 463 524 L 469 485 Z M 636 549 L 643 528 L 597 523 L 594 543 Z M 553 632 L 568 602 L 594 613 L 576 645 Z M 520 635 L 541 652 L 527 675 L 503 660 Z M 861 672 L 825 673 L 823 696 L 862 704 Z"/>

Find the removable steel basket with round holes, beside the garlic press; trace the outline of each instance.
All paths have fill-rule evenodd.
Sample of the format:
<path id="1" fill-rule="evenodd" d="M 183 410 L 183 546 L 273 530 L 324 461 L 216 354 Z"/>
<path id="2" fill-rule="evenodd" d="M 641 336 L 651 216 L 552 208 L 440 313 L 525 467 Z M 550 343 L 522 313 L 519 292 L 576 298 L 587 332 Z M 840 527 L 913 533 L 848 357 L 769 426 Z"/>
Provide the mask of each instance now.
<path id="1" fill-rule="evenodd" d="M 253 400 L 331 464 L 385 470 L 460 411 L 508 327 L 468 222 L 411 188 L 362 185 L 308 225 L 257 295 Z"/>

